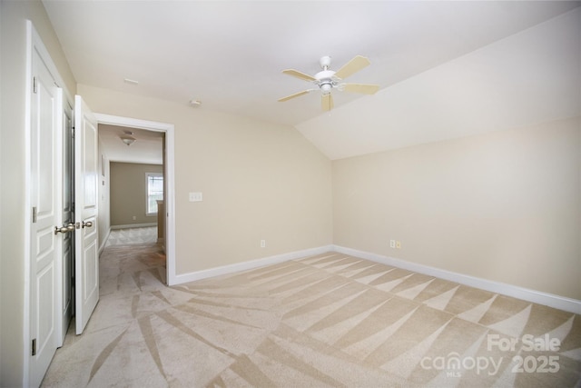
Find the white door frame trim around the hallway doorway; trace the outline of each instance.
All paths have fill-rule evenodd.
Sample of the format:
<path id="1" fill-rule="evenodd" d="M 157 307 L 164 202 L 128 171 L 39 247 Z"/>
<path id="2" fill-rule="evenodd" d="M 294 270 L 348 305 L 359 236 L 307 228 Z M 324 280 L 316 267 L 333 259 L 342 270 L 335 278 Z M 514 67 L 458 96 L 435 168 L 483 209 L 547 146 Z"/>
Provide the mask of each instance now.
<path id="1" fill-rule="evenodd" d="M 94 114 L 98 124 L 125 126 L 144 129 L 146 131 L 162 132 L 165 134 L 164 180 L 167 192 L 165 193 L 165 271 L 167 285 L 177 284 L 175 274 L 175 164 L 174 164 L 174 125 L 141 120 L 131 117 L 111 114 Z"/>

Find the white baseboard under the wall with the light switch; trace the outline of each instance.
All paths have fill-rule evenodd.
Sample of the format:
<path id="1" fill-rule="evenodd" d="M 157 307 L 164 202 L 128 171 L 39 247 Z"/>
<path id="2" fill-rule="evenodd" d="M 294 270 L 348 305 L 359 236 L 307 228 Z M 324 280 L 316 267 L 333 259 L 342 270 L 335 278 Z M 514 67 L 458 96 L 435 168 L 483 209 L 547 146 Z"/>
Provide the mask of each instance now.
<path id="1" fill-rule="evenodd" d="M 175 284 L 195 282 L 196 280 L 206 279 L 209 277 L 219 276 L 222 274 L 233 274 L 240 271 L 251 270 L 264 265 L 279 264 L 289 260 L 300 259 L 302 257 L 313 256 L 315 254 L 324 254 L 333 250 L 333 245 L 320 246 L 302 251 L 291 252 L 288 254 L 275 254 L 274 256 L 263 257 L 261 259 L 251 260 L 237 264 L 222 265 L 220 267 L 210 268 L 207 270 L 196 271 L 189 274 L 176 274 Z"/>

